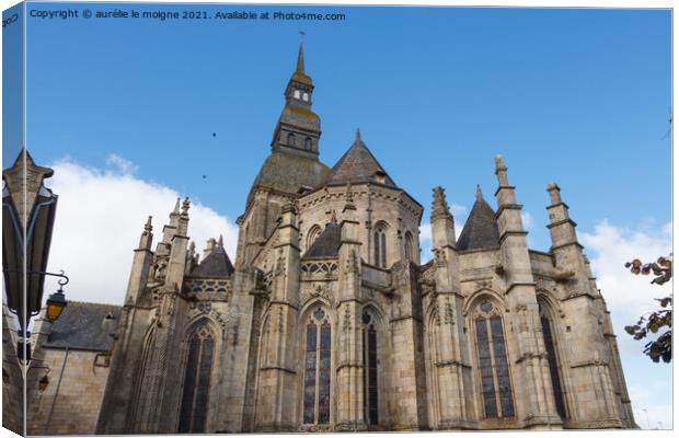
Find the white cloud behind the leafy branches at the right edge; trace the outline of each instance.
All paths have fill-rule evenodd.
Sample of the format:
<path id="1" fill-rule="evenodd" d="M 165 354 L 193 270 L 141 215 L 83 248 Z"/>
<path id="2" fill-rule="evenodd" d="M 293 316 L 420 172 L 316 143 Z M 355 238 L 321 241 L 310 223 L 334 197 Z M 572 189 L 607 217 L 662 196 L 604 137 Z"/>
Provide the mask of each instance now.
<path id="1" fill-rule="evenodd" d="M 597 286 L 611 312 L 636 424 L 642 428 L 671 428 L 671 367 L 652 362 L 642 353 L 648 339 L 634 341 L 624 332 L 624 326 L 635 323 L 640 315 L 658 309 L 654 298 L 671 293 L 671 284 L 651 285 L 652 276 L 634 276 L 624 267 L 634 258 L 647 263 L 669 254 L 671 223 L 655 230 L 644 224 L 629 229 L 603 220 L 594 232 L 579 233 L 579 240 L 590 254 Z"/>

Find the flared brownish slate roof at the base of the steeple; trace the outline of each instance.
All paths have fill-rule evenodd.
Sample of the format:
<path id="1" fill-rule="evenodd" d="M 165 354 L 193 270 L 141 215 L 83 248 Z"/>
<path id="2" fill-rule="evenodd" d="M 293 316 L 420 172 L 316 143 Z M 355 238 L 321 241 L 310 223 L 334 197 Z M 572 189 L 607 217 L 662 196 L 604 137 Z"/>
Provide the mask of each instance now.
<path id="1" fill-rule="evenodd" d="M 327 172 L 327 166 L 320 161 L 285 152 L 272 152 L 262 164 L 252 188 L 263 186 L 297 194 L 300 187 L 318 186 L 325 180 Z M 250 192 L 252 196 L 252 189 Z"/>

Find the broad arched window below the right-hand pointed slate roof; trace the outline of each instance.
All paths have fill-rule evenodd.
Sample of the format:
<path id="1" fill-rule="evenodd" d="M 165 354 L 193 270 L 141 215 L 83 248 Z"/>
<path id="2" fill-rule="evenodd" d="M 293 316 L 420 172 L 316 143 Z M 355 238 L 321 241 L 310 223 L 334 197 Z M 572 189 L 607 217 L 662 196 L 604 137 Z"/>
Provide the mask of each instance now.
<path id="1" fill-rule="evenodd" d="M 476 351 L 486 418 L 513 417 L 514 400 L 499 310 L 483 301 L 474 312 Z"/>

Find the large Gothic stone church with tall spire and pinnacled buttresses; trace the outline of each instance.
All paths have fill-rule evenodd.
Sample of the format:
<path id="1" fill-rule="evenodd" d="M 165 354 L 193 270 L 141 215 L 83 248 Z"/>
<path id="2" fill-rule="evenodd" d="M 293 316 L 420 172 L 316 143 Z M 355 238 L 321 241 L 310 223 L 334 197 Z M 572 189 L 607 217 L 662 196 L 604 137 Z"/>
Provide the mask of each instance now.
<path id="1" fill-rule="evenodd" d="M 477 187 L 459 239 L 434 188 L 434 258 L 422 264 L 423 205 L 359 131 L 332 168 L 321 162 L 313 92 L 300 45 L 233 263 L 221 238 L 196 252 L 189 201 L 177 200 L 154 246 L 151 218 L 143 227 L 122 308 L 71 303 L 43 324 L 36 357 L 51 348 L 58 364 L 81 342 L 90 349 L 71 350 L 102 369 L 71 373 L 94 395 L 70 433 L 636 427 L 560 187 L 546 187 L 549 252 L 527 247 L 500 155 L 496 208 Z M 84 327 L 99 334 L 83 339 Z"/>

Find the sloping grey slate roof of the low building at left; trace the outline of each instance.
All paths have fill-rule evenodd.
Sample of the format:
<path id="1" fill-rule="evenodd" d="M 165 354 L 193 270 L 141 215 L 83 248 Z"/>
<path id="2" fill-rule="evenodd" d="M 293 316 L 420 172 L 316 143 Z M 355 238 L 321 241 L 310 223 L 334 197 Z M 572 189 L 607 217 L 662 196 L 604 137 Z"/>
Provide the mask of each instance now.
<path id="1" fill-rule="evenodd" d="M 46 347 L 107 351 L 120 320 L 122 307 L 95 302 L 68 301 L 64 312 L 51 324 Z M 106 315 L 113 316 L 104 322 Z"/>

